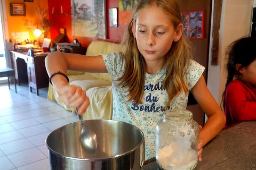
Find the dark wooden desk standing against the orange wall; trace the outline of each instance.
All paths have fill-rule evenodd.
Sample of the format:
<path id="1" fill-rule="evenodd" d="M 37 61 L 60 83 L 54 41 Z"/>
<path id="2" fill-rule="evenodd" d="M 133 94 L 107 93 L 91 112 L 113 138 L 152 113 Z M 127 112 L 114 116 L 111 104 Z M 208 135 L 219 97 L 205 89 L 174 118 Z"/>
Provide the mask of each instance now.
<path id="1" fill-rule="evenodd" d="M 28 82 L 30 92 L 34 88 L 37 95 L 39 95 L 38 89 L 49 86 L 49 77 L 44 63 L 46 56 L 31 57 L 26 55 L 26 52 L 11 51 L 15 79 L 17 79 L 19 85 L 21 82 Z"/>

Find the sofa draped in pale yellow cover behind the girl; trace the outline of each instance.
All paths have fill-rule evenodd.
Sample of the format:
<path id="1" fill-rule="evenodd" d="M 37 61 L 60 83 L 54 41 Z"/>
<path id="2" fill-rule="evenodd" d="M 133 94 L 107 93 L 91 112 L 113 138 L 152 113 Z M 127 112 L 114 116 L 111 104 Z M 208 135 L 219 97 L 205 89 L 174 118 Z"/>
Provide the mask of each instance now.
<path id="1" fill-rule="evenodd" d="M 97 56 L 104 53 L 119 52 L 120 45 L 102 40 L 94 40 L 87 47 L 87 56 Z M 82 87 L 89 97 L 90 105 L 83 114 L 84 120 L 112 118 L 113 94 L 111 78 L 108 73 L 86 73 L 78 71 L 67 71 L 69 84 Z M 56 100 L 57 103 L 68 111 L 75 113 L 74 108 L 65 105 L 58 97 L 56 90 L 49 83 L 47 97 Z"/>

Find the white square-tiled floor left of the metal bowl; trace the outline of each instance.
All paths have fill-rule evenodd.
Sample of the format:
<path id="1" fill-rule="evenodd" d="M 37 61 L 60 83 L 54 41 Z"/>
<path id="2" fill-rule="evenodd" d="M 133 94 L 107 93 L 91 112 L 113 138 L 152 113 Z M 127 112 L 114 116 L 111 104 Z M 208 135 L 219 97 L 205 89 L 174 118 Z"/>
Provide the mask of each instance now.
<path id="1" fill-rule="evenodd" d="M 50 169 L 45 139 L 54 129 L 78 121 L 76 114 L 39 96 L 27 84 L 0 85 L 0 169 Z"/>

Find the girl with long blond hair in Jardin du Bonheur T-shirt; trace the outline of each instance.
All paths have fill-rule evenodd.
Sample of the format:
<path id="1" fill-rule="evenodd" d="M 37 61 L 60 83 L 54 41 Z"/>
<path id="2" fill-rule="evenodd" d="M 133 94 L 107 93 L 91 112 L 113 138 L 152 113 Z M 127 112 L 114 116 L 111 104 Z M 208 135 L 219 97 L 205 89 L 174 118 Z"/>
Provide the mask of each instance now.
<path id="1" fill-rule="evenodd" d="M 131 123 L 146 138 L 146 159 L 155 156 L 155 127 L 166 109 L 187 107 L 189 90 L 208 116 L 198 142 L 202 147 L 225 124 L 225 115 L 206 87 L 204 67 L 193 55 L 177 0 L 139 1 L 123 40 L 122 53 L 89 57 L 52 53 L 46 58 L 49 77 L 66 70 L 108 72 L 113 81 L 113 120 Z M 77 62 L 79 61 L 79 62 Z M 89 105 L 85 91 L 69 86 L 65 76 L 51 77 L 53 86 L 70 107 L 82 114 Z"/>

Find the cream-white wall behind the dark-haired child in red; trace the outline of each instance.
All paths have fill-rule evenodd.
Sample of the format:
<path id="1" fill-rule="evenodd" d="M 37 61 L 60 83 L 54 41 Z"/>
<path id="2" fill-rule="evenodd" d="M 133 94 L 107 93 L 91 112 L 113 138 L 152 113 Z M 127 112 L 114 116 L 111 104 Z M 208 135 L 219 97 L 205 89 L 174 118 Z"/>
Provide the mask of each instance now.
<path id="1" fill-rule="evenodd" d="M 255 1 L 256 0 L 223 0 L 222 2 L 218 65 L 211 65 L 212 44 L 210 44 L 207 78 L 207 86 L 219 104 L 222 100 L 222 94 L 225 90 L 227 79 L 225 67 L 226 47 L 240 37 L 250 36 L 252 11 Z"/>

